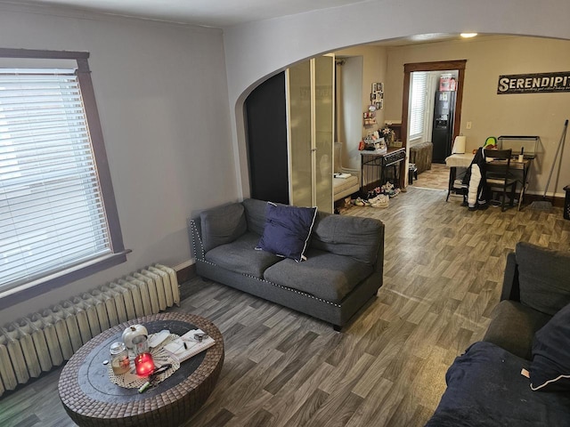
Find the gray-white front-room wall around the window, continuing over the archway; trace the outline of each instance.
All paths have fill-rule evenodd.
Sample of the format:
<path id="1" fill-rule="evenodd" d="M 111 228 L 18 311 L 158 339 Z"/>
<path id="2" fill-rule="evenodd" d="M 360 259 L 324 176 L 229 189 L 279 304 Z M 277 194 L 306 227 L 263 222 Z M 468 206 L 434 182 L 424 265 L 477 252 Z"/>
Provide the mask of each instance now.
<path id="1" fill-rule="evenodd" d="M 134 252 L 125 264 L 2 310 L 0 324 L 149 262 L 188 261 L 186 216 L 248 195 L 245 97 L 290 64 L 442 31 L 570 39 L 567 24 L 566 0 L 369 0 L 227 28 L 222 38 L 212 28 L 1 5 L 3 47 L 91 52 L 118 214 Z"/>

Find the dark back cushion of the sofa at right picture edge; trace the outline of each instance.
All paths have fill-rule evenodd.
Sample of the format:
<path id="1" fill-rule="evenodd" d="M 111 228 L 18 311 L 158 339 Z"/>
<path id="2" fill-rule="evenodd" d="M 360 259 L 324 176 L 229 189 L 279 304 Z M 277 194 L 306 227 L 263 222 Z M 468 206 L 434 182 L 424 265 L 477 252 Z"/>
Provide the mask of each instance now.
<path id="1" fill-rule="evenodd" d="M 523 304 L 554 316 L 570 303 L 570 251 L 519 242 L 515 252 Z"/>

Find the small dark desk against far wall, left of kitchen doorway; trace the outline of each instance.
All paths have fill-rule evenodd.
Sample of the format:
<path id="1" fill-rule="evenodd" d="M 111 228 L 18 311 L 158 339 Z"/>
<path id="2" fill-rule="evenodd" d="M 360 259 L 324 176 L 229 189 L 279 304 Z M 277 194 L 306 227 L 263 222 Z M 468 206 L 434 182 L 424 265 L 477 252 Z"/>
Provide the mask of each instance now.
<path id="1" fill-rule="evenodd" d="M 360 152 L 361 160 L 361 174 L 360 174 L 360 189 L 364 193 L 364 176 L 366 175 L 366 185 L 369 186 L 372 183 L 379 181 L 379 185 L 384 185 L 387 181 L 386 170 L 387 167 L 394 167 L 394 181 L 399 182 L 398 165 L 400 165 L 406 158 L 405 148 L 389 148 L 385 153 L 379 153 L 377 151 L 367 151 L 362 150 Z M 366 166 L 366 167 L 364 167 Z M 371 181 L 370 177 L 374 175 L 379 175 L 378 179 Z M 374 185 L 376 187 L 376 185 Z"/>

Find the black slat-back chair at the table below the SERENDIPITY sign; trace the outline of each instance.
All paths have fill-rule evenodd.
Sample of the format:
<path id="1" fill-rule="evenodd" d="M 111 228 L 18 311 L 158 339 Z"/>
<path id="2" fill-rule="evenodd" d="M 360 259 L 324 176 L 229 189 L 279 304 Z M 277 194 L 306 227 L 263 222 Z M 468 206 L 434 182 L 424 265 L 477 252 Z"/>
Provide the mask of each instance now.
<path id="1" fill-rule="evenodd" d="M 485 149 L 485 178 L 487 186 L 493 192 L 501 192 L 501 211 L 506 209 L 505 196 L 510 188 L 509 205 L 515 202 L 517 179 L 510 173 L 512 149 Z"/>

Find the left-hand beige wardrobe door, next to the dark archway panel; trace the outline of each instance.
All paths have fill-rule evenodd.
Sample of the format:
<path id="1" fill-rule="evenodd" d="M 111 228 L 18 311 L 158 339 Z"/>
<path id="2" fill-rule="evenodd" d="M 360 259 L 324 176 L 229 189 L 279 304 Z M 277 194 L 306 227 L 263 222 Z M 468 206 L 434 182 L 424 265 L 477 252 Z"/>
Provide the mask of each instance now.
<path id="1" fill-rule="evenodd" d="M 313 206 L 311 61 L 287 70 L 289 122 L 289 201 Z"/>

